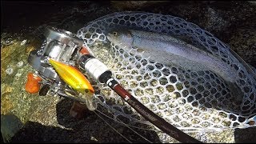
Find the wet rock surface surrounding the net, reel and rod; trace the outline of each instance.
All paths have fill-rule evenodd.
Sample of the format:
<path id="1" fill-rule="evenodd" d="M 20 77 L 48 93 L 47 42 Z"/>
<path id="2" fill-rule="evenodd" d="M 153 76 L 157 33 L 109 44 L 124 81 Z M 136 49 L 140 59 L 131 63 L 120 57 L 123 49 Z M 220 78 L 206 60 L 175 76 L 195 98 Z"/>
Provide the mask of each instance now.
<path id="1" fill-rule="evenodd" d="M 40 46 L 42 28 L 46 25 L 76 33 L 87 22 L 122 10 L 170 14 L 210 31 L 255 67 L 256 6 L 252 2 L 175 1 L 130 8 L 122 6 L 125 2 L 119 5 L 111 2 L 2 2 L 1 114 L 17 115 L 24 125 L 10 142 L 127 142 L 94 113 L 82 119 L 72 118 L 69 110 L 73 102 L 70 100 L 26 93 L 26 74 L 33 71 L 27 56 Z M 24 39 L 29 43 L 21 46 Z M 24 64 L 18 67 L 21 61 Z M 6 74 L 9 67 L 14 68 L 13 74 Z M 108 122 L 131 142 L 146 142 L 126 126 Z M 139 130 L 138 133 L 152 142 L 159 142 L 154 132 Z M 206 142 L 255 142 L 254 134 L 255 127 L 224 130 L 220 134 L 206 134 Z"/>

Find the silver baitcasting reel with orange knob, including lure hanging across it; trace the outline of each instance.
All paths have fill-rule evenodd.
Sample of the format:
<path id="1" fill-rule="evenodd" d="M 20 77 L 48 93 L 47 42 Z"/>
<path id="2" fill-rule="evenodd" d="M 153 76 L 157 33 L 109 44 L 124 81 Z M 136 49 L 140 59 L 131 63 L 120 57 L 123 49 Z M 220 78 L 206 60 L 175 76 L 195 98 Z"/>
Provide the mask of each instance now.
<path id="1" fill-rule="evenodd" d="M 76 70 L 78 58 L 82 55 L 80 50 L 84 48 L 82 47 L 82 39 L 77 38 L 70 31 L 60 30 L 54 27 L 47 27 L 43 35 L 46 39 L 42 42 L 41 48 L 31 51 L 28 57 L 30 66 L 36 71 L 35 74 L 28 74 L 26 91 L 31 94 L 39 92 L 41 96 L 51 94 L 71 98 L 78 102 L 85 102 L 89 110 L 95 110 L 96 106 L 92 104 L 92 98 L 88 100 L 85 96 L 81 96 L 79 94 L 79 88 L 75 90 L 76 87 L 72 86 L 72 83 L 71 86 L 67 83 L 70 82 L 68 72 L 72 70 L 74 74 L 79 75 L 80 79 L 78 81 L 86 82 L 85 85 L 90 87 L 90 92 L 94 93 L 90 82 L 87 81 L 86 77 L 83 78 L 79 70 Z M 56 69 L 54 65 L 66 67 L 64 71 L 58 72 L 59 68 Z M 67 74 L 63 76 L 63 73 Z M 71 74 L 71 77 L 74 74 Z M 73 80 L 76 80 L 76 78 L 73 78 Z M 79 83 L 79 85 L 81 84 Z"/>

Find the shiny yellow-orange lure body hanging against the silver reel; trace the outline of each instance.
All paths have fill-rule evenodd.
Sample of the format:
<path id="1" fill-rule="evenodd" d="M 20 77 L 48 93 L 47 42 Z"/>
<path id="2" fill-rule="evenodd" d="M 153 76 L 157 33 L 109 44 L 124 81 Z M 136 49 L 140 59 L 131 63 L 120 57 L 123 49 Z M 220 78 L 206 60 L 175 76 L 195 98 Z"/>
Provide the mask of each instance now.
<path id="1" fill-rule="evenodd" d="M 93 86 L 90 85 L 88 79 L 74 66 L 68 66 L 62 62 L 54 61 L 53 59 L 50 59 L 49 62 L 54 66 L 54 69 L 62 80 L 74 90 L 82 94 L 94 94 Z"/>

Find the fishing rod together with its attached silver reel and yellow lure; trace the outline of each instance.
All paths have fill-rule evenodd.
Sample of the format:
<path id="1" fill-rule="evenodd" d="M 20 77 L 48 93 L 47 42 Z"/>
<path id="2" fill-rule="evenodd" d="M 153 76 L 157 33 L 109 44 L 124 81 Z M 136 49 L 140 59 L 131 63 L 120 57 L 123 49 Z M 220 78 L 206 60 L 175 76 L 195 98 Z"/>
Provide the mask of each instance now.
<path id="1" fill-rule="evenodd" d="M 178 130 L 134 98 L 112 77 L 108 67 L 90 54 L 83 46 L 82 39 L 77 38 L 75 34 L 47 27 L 44 35 L 46 40 L 42 42 L 42 47 L 31 51 L 28 58 L 30 65 L 37 71 L 36 74 L 28 74 L 27 92 L 34 94 L 39 91 L 39 95 L 50 93 L 72 98 L 85 103 L 89 110 L 94 111 L 97 109 L 93 101 L 94 88 L 78 69 L 86 70 L 91 78 L 105 83 L 134 110 L 166 134 L 179 142 L 200 142 Z"/>

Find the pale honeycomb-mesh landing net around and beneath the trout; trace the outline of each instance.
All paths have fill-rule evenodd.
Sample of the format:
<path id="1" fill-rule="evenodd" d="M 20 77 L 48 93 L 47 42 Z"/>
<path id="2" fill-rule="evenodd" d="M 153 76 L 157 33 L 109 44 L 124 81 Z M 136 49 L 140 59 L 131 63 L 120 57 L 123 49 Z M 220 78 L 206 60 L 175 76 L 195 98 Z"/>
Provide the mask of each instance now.
<path id="1" fill-rule="evenodd" d="M 191 71 L 174 64 L 165 66 L 143 57 L 135 47 L 126 51 L 110 43 L 106 34 L 117 26 L 190 38 L 194 46 L 203 47 L 234 67 L 236 84 L 244 95 L 232 95 L 226 82 L 210 70 Z M 230 54 L 229 46 L 195 24 L 171 15 L 119 12 L 87 23 L 77 35 L 130 94 L 178 129 L 223 130 L 255 126 L 256 80 L 253 74 Z M 98 84 L 95 90 L 98 104 L 111 110 L 114 120 L 126 118 L 130 125 L 150 126 L 108 86 Z"/>

